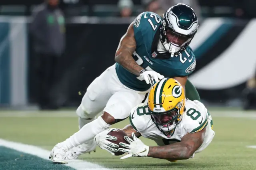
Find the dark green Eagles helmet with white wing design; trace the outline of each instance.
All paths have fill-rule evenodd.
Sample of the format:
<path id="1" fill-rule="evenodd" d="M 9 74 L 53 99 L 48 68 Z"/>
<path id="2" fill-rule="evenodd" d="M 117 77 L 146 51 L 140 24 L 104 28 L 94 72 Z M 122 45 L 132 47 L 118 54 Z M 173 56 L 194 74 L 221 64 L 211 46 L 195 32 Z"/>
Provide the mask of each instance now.
<path id="1" fill-rule="evenodd" d="M 191 42 L 198 28 L 194 10 L 186 4 L 176 4 L 164 14 L 160 41 L 171 54 L 182 52 Z"/>

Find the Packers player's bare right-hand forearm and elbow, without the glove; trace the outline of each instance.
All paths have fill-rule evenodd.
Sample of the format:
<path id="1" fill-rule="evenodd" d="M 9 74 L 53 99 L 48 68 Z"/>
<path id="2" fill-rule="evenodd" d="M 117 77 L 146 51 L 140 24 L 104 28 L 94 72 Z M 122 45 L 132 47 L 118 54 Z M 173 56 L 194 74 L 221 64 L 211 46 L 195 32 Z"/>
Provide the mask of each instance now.
<path id="1" fill-rule="evenodd" d="M 150 146 L 148 157 L 169 160 L 188 159 L 202 145 L 205 132 L 206 127 L 199 132 L 186 134 L 180 142 L 166 146 Z"/>

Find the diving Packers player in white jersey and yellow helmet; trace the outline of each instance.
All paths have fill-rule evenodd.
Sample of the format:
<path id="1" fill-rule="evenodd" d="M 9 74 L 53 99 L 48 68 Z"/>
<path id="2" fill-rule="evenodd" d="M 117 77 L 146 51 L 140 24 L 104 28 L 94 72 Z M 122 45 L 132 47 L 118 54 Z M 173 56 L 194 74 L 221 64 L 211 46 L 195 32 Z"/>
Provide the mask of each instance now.
<path id="1" fill-rule="evenodd" d="M 118 148 L 110 140 L 109 129 L 94 138 L 100 148 L 114 154 L 127 152 L 121 159 L 132 156 L 148 156 L 176 161 L 194 157 L 212 141 L 212 117 L 197 100 L 186 100 L 182 85 L 175 79 L 164 78 L 150 90 L 148 102 L 138 105 L 130 112 L 130 125 L 124 130 L 129 144 L 120 142 Z M 152 139 L 158 146 L 146 146 L 138 137 Z M 132 139 L 131 139 L 132 138 Z M 108 139 L 108 140 L 106 140 Z"/>

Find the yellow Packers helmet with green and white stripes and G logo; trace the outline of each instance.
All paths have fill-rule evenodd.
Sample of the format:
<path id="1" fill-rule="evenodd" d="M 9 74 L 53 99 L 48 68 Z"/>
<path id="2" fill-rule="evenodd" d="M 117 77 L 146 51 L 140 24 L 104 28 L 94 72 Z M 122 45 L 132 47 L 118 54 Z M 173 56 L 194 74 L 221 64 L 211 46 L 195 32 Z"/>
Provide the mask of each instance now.
<path id="1" fill-rule="evenodd" d="M 165 135 L 180 123 L 185 102 L 184 89 L 175 79 L 161 79 L 150 89 L 148 111 L 156 127 Z"/>

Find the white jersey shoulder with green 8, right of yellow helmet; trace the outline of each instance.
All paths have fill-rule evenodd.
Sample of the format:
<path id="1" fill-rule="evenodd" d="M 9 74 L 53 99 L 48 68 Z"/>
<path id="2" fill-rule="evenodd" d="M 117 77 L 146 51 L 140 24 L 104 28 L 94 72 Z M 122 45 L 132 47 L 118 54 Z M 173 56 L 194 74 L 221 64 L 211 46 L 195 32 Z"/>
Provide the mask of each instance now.
<path id="1" fill-rule="evenodd" d="M 197 100 L 186 102 L 184 113 L 184 127 L 188 133 L 199 132 L 208 125 L 208 113 L 206 107 Z"/>

